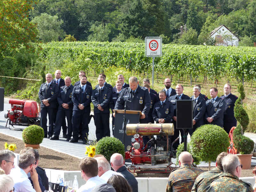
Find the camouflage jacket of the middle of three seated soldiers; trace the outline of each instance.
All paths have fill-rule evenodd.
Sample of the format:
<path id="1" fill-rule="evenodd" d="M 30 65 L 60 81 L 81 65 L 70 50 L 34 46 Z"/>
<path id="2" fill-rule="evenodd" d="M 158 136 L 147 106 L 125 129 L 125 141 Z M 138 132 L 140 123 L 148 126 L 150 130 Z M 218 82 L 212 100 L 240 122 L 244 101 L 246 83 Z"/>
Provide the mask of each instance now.
<path id="1" fill-rule="evenodd" d="M 218 179 L 223 171 L 215 167 L 210 171 L 200 173 L 196 178 L 191 192 L 204 192 L 206 191 L 212 182 L 212 180 Z"/>

